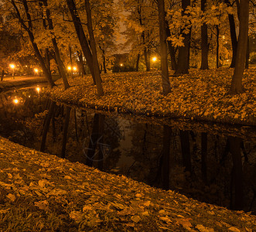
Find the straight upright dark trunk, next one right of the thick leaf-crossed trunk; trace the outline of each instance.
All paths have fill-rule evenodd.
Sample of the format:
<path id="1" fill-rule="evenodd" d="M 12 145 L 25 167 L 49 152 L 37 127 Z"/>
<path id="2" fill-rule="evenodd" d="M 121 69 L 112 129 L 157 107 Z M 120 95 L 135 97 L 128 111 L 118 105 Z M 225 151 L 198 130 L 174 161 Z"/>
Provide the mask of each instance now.
<path id="1" fill-rule="evenodd" d="M 207 0 L 201 0 L 201 9 L 202 12 L 205 12 L 205 6 L 207 4 Z M 207 33 L 207 24 L 203 22 L 203 26 L 201 26 L 201 67 L 200 70 L 208 70 L 208 33 Z"/>

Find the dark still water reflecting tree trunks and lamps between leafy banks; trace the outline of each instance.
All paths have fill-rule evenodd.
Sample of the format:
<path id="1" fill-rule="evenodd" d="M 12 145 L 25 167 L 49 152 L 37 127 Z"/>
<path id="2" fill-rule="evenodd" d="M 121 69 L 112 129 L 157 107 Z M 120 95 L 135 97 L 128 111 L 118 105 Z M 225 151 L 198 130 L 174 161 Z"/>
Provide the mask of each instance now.
<path id="1" fill-rule="evenodd" d="M 72 108 L 36 87 L 1 94 L 0 135 L 196 200 L 256 213 L 256 128 Z"/>

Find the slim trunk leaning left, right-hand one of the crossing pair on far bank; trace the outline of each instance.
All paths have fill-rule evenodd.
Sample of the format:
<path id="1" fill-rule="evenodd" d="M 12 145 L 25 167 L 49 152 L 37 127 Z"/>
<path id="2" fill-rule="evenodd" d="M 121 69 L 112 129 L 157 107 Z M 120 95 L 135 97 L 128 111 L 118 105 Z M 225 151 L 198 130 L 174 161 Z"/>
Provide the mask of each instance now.
<path id="1" fill-rule="evenodd" d="M 97 61 L 97 49 L 96 49 L 96 42 L 94 38 L 94 30 L 93 30 L 93 25 L 92 25 L 92 20 L 91 20 L 91 12 L 90 12 L 90 2 L 89 0 L 85 0 L 85 10 L 87 13 L 87 29 L 89 32 L 90 36 L 90 48 L 91 48 L 91 53 L 93 56 L 93 65 L 94 65 L 94 76 L 95 76 L 95 82 L 96 82 L 96 87 L 97 87 L 97 96 L 103 96 L 104 95 L 104 90 L 101 84 L 101 74 L 99 70 L 99 63 Z"/>

